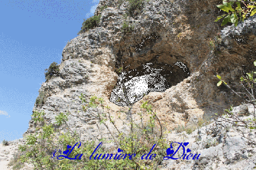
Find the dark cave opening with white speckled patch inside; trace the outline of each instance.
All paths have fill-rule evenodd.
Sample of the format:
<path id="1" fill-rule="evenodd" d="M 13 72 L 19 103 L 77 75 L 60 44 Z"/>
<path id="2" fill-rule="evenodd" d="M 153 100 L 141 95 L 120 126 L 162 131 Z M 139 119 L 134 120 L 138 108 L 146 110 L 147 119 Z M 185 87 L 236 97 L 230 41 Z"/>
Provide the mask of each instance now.
<path id="1" fill-rule="evenodd" d="M 121 74 L 118 74 L 118 81 L 111 92 L 110 101 L 118 106 L 127 106 L 122 89 L 123 82 L 127 89 L 129 103 L 134 104 L 143 98 L 143 94 L 164 92 L 177 85 L 190 76 L 190 71 L 186 64 L 179 61 L 174 64 L 146 63 L 133 70 L 125 71 L 124 69 L 122 76 L 123 81 Z M 137 99 L 134 97 L 135 95 Z M 118 98 L 126 103 L 117 102 Z"/>

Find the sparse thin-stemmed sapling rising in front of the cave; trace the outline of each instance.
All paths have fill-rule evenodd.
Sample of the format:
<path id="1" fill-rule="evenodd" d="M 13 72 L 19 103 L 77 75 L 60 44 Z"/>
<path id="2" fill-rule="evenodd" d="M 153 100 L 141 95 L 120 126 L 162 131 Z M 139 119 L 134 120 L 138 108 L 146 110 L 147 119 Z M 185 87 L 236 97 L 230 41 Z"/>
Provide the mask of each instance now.
<path id="1" fill-rule="evenodd" d="M 119 66 L 119 65 L 118 65 Z M 122 71 L 123 68 L 119 67 L 119 72 L 121 72 L 121 78 L 123 81 Z M 126 112 L 127 117 L 129 118 L 129 133 L 123 133 L 118 129 L 115 124 L 114 117 L 111 116 L 109 106 L 104 106 L 104 102 L 102 98 L 97 98 L 97 96 L 92 96 L 90 99 L 89 104 L 83 105 L 82 109 L 83 112 L 87 112 L 88 108 L 97 108 L 97 114 L 93 112 L 89 112 L 90 118 L 88 116 L 82 116 L 84 120 L 98 120 L 99 124 L 103 124 L 106 129 L 111 134 L 111 137 L 116 144 L 116 149 L 120 148 L 123 150 L 124 153 L 127 154 L 136 154 L 135 159 L 132 160 L 123 160 L 120 162 L 113 162 L 115 168 L 120 168 L 120 164 L 124 164 L 126 168 L 123 169 L 157 169 L 158 165 L 161 163 L 164 157 L 164 152 L 168 148 L 168 145 L 163 136 L 163 128 L 158 119 L 156 113 L 153 111 L 152 105 L 148 105 L 147 101 L 144 102 L 140 107 L 142 109 L 141 113 L 135 113 L 140 116 L 140 123 L 135 123 L 134 116 L 132 113 L 133 106 L 129 103 L 128 96 L 127 96 L 127 89 L 125 88 L 123 82 L 123 92 L 126 101 L 122 99 L 118 99 L 117 102 L 124 102 L 129 107 L 128 111 Z M 136 100 L 137 96 L 135 96 Z M 84 95 L 81 94 L 80 99 L 82 103 L 86 103 L 84 99 Z M 101 111 L 98 110 L 98 106 L 100 106 Z M 147 120 L 147 121 L 146 121 Z M 110 125 L 107 123 L 110 122 L 115 131 L 110 130 Z M 97 125 L 99 131 L 101 129 Z M 155 145 L 154 150 L 151 154 L 156 154 L 155 159 L 153 160 L 142 160 L 141 156 L 143 156 L 146 152 L 150 151 Z M 103 169 L 108 169 L 104 167 Z"/>

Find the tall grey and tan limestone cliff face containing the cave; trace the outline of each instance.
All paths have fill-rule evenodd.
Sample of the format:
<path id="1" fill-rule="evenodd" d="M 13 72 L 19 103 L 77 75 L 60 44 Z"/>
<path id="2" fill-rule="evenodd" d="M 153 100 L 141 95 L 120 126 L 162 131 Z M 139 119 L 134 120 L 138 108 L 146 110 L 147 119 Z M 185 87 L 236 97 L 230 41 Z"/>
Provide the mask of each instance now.
<path id="1" fill-rule="evenodd" d="M 95 11 L 95 15 L 101 14 L 99 27 L 78 35 L 66 45 L 59 65 L 60 76 L 42 84 L 39 92 L 46 92 L 47 99 L 44 105 L 35 105 L 33 111 L 44 110 L 49 122 L 54 123 L 56 113 L 69 110 L 77 116 L 69 116 L 71 129 L 81 133 L 85 141 L 109 134 L 100 134 L 95 120 L 84 122 L 79 118 L 80 94 L 85 94 L 88 101 L 92 95 L 102 97 L 125 131 L 127 116 L 123 113 L 118 118 L 117 111 L 127 111 L 127 106 L 116 102 L 124 98 L 122 90 L 114 88 L 122 82 L 129 88 L 130 104 L 134 95 L 138 97 L 133 113 L 139 112 L 139 106 L 148 100 L 167 130 L 202 115 L 222 113 L 232 103 L 239 105 L 241 101 L 229 89 L 217 87 L 216 75 L 238 89 L 236 82 L 241 75 L 253 69 L 256 18 L 250 17 L 237 28 L 223 29 L 220 21 L 214 22 L 222 15 L 216 7 L 221 2 L 149 1 L 142 11 L 125 17 L 127 2 L 118 8 L 118 1 L 100 1 Z M 108 8 L 101 11 L 102 6 Z M 133 31 L 123 32 L 125 21 Z M 208 41 L 217 33 L 222 40 L 212 51 Z M 119 67 L 123 68 L 122 76 Z M 31 120 L 24 137 L 34 133 L 37 126 L 40 125 Z"/>

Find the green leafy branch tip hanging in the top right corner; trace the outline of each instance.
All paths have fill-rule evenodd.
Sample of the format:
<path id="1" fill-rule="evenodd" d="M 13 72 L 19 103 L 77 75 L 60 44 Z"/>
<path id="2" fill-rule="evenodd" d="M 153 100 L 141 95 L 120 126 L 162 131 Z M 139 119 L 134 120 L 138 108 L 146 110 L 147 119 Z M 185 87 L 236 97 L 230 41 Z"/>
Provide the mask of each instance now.
<path id="1" fill-rule="evenodd" d="M 218 16 L 215 21 L 218 21 L 221 18 L 224 18 L 221 26 L 224 26 L 226 23 L 234 23 L 234 26 L 237 27 L 239 19 L 244 21 L 247 14 L 250 16 L 256 13 L 256 2 L 255 0 L 248 1 L 228 1 L 224 0 L 222 5 L 217 5 L 222 11 L 227 12 L 227 14 Z"/>

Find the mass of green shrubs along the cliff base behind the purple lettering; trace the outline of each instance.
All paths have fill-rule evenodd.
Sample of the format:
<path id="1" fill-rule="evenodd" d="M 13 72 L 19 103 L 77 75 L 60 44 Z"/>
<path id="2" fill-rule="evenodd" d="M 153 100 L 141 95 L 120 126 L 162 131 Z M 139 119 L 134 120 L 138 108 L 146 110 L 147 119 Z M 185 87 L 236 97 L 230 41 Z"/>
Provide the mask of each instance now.
<path id="1" fill-rule="evenodd" d="M 121 70 L 122 68 L 120 68 L 120 71 Z M 123 90 L 127 99 L 127 89 L 124 88 Z M 147 101 L 141 105 L 142 112 L 137 113 L 141 118 L 140 123 L 135 123 L 131 112 L 133 106 L 127 101 L 129 110 L 126 114 L 129 116 L 130 131 L 124 133 L 116 126 L 115 119 L 109 112 L 110 107 L 104 105 L 102 98 L 92 96 L 90 101 L 87 102 L 86 98 L 84 98 L 84 94 L 81 94 L 80 100 L 82 104 L 86 103 L 81 106 L 83 113 L 90 114 L 90 118 L 85 116 L 87 114 L 83 114 L 84 116 L 81 117 L 84 118 L 85 121 L 95 119 L 100 132 L 102 128 L 99 128 L 99 126 L 102 124 L 111 134 L 111 140 L 101 138 L 100 141 L 115 144 L 115 148 L 102 147 L 97 152 L 115 153 L 119 148 L 123 153 L 136 154 L 136 157 L 132 160 L 120 159 L 118 161 L 89 159 L 96 145 L 95 141 L 86 141 L 82 143 L 80 148 L 75 148 L 69 155 L 70 158 L 74 158 L 77 154 L 82 153 L 84 156 L 81 157 L 80 160 L 53 159 L 52 153 L 54 150 L 60 149 L 60 151 L 65 151 L 67 145 L 73 146 L 76 142 L 81 140 L 78 133 L 72 131 L 67 124 L 68 115 L 74 115 L 70 112 L 61 112 L 55 117 L 56 122 L 50 124 L 45 119 L 44 112 L 35 111 L 32 114 L 32 119 L 35 123 L 42 123 L 44 126 L 36 128 L 35 134 L 27 136 L 27 143 L 25 145 L 19 145 L 19 151 L 25 152 L 26 154 L 21 156 L 17 162 L 31 162 L 37 169 L 157 169 L 158 165 L 163 160 L 164 152 L 168 148 L 168 144 L 164 139 L 163 127 L 160 120 L 156 113 L 153 112 L 152 106 L 147 104 Z M 96 108 L 97 112 L 87 112 L 89 108 Z M 65 129 L 69 130 L 63 133 L 54 128 L 56 126 L 65 126 Z M 112 128 L 114 128 L 114 130 Z M 154 144 L 156 144 L 156 146 L 151 152 L 151 154 L 156 154 L 154 159 L 141 160 L 141 156 L 150 151 Z M 61 152 L 58 155 L 61 155 Z"/>

